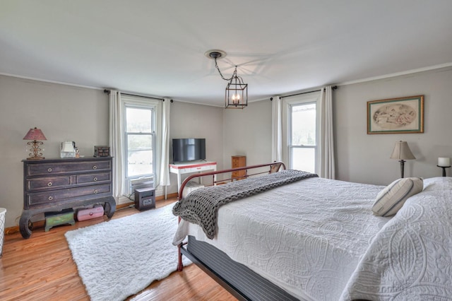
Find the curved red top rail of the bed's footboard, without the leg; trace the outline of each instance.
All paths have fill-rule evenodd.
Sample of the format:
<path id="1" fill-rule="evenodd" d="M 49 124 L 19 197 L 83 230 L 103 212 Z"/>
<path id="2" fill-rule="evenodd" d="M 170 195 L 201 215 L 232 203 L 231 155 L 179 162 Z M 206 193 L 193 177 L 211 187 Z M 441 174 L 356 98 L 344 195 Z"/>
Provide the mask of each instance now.
<path id="1" fill-rule="evenodd" d="M 257 169 L 263 169 L 263 167 L 268 167 L 268 170 L 263 170 L 263 171 L 255 171 L 254 173 L 249 173 L 249 170 L 257 170 Z M 251 176 L 255 176 L 255 175 L 262 175 L 262 174 L 270 174 L 273 172 L 278 172 L 280 169 L 285 170 L 285 164 L 283 162 L 273 162 L 273 163 L 266 163 L 266 164 L 260 164 L 260 165 L 250 165 L 250 166 L 244 166 L 244 167 L 237 167 L 237 168 L 231 168 L 230 170 L 217 170 L 215 172 L 201 172 L 198 173 L 196 175 L 191 175 L 189 177 L 186 177 L 186 179 L 184 179 L 184 182 L 182 182 L 181 184 L 181 188 L 178 191 L 177 194 L 177 199 L 182 199 L 182 192 L 184 192 L 184 188 L 185 185 L 191 181 L 191 179 L 195 179 L 195 178 L 200 178 L 200 177 L 206 177 L 206 176 L 212 176 L 212 183 L 213 185 L 216 185 L 220 182 L 232 182 L 234 179 L 232 177 L 227 178 L 227 179 L 220 179 L 220 180 L 215 180 L 215 176 L 216 175 L 220 175 L 220 174 L 226 174 L 226 173 L 232 173 L 232 172 L 237 172 L 240 170 L 245 170 L 245 175 L 244 176 L 240 176 L 240 179 L 244 179 L 247 177 L 251 177 Z"/>

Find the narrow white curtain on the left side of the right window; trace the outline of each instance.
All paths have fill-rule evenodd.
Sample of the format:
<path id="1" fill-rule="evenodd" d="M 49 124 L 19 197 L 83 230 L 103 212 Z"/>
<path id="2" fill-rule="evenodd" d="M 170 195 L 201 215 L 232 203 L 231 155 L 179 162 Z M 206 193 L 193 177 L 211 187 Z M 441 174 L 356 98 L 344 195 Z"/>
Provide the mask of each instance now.
<path id="1" fill-rule="evenodd" d="M 279 96 L 274 96 L 272 100 L 271 117 L 271 160 L 283 160 L 283 104 Z"/>

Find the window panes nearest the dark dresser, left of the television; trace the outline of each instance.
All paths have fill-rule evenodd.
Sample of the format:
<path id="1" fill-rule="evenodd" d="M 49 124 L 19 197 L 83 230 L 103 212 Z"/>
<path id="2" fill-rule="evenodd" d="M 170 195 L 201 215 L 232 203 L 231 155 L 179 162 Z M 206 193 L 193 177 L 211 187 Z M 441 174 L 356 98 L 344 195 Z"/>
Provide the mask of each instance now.
<path id="1" fill-rule="evenodd" d="M 155 174 L 155 112 L 153 108 L 126 105 L 126 177 Z"/>

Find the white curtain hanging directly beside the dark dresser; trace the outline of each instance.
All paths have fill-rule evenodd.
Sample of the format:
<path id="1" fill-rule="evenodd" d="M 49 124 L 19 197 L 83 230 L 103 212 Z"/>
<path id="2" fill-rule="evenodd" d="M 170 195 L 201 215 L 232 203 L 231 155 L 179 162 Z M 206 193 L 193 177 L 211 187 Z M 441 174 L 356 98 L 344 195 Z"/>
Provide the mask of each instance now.
<path id="1" fill-rule="evenodd" d="M 109 96 L 109 147 L 113 157 L 113 196 L 119 198 L 124 194 L 124 151 L 122 141 L 121 93 L 110 90 Z"/>

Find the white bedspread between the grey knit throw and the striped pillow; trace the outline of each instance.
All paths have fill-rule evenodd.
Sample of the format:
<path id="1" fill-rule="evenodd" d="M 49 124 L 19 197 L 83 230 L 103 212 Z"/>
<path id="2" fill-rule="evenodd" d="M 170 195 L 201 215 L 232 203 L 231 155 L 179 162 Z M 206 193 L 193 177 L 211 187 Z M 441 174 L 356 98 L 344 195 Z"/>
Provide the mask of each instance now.
<path id="1" fill-rule="evenodd" d="M 304 179 L 222 206 L 213 240 L 182 222 L 174 243 L 194 235 L 301 300 L 339 300 L 362 254 L 389 220 L 371 213 L 381 189 Z"/>

